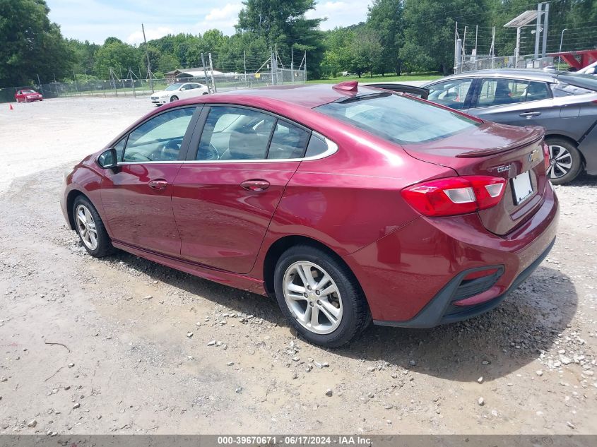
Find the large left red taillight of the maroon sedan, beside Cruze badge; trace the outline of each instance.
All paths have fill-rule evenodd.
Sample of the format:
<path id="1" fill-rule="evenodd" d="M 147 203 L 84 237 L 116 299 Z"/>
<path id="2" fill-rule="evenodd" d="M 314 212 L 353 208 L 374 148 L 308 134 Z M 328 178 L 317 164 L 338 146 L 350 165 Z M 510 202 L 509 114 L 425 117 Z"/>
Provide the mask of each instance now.
<path id="1" fill-rule="evenodd" d="M 449 177 L 408 186 L 403 198 L 422 215 L 430 217 L 475 213 L 497 205 L 504 196 L 501 177 Z"/>

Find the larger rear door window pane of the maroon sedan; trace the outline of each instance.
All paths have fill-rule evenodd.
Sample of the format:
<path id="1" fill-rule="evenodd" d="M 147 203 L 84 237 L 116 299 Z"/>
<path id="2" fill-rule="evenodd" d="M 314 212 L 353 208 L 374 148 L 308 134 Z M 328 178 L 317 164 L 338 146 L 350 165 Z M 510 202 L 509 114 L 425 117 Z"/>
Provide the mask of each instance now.
<path id="1" fill-rule="evenodd" d="M 196 160 L 264 160 L 276 118 L 240 107 L 212 107 Z"/>

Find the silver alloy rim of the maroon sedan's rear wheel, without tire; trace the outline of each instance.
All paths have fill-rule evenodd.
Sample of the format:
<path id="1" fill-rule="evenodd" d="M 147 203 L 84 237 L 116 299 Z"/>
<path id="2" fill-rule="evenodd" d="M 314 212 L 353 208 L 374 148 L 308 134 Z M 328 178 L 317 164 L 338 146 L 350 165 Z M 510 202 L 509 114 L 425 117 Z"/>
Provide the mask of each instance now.
<path id="1" fill-rule="evenodd" d="M 342 321 L 340 290 L 317 264 L 292 263 L 284 273 L 284 299 L 301 326 L 317 334 L 329 334 Z"/>

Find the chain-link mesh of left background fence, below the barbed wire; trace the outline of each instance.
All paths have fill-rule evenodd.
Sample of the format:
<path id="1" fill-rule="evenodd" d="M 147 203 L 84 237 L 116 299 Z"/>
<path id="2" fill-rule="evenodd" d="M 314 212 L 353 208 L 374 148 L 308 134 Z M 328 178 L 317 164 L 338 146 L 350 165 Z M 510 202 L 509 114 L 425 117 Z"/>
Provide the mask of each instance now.
<path id="1" fill-rule="evenodd" d="M 163 90 L 168 85 L 178 82 L 196 82 L 208 85 L 211 93 L 239 90 L 242 88 L 265 87 L 267 85 L 285 85 L 305 83 L 305 70 L 291 70 L 278 68 L 265 73 L 226 73 L 196 78 L 169 79 L 104 79 L 90 81 L 72 81 L 67 83 L 52 82 L 42 85 L 28 85 L 0 89 L 0 102 L 13 102 L 18 90 L 32 89 L 41 93 L 45 98 L 72 96 L 148 96 L 152 92 Z"/>

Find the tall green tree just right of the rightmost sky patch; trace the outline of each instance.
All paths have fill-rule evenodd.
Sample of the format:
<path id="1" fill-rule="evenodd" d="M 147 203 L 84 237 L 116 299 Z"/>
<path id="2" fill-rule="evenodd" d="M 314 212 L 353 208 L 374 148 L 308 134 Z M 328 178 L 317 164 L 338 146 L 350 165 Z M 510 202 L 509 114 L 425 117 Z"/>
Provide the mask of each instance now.
<path id="1" fill-rule="evenodd" d="M 367 28 L 375 30 L 382 45 L 379 70 L 400 75 L 398 52 L 404 44 L 403 0 L 373 0 L 367 15 Z"/>

